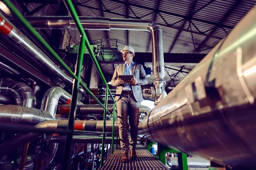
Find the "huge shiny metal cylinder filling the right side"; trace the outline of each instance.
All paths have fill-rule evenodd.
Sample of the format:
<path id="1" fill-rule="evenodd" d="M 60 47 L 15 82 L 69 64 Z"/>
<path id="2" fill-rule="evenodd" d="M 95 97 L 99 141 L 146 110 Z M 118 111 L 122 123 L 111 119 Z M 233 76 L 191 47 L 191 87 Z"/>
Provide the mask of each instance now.
<path id="1" fill-rule="evenodd" d="M 193 156 L 254 169 L 256 8 L 143 120 L 147 139 Z"/>

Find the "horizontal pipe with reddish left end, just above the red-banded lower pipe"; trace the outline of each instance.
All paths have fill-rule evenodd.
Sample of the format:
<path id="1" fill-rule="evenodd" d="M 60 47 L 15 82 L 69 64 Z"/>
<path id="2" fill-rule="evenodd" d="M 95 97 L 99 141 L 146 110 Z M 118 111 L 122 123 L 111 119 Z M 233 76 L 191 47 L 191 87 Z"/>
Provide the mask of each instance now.
<path id="1" fill-rule="evenodd" d="M 113 104 L 109 104 L 107 109 L 110 113 L 113 112 Z M 104 114 L 104 108 L 101 105 L 77 105 L 76 117 L 85 116 L 88 114 Z M 69 115 L 70 105 L 58 105 L 58 114 Z"/>

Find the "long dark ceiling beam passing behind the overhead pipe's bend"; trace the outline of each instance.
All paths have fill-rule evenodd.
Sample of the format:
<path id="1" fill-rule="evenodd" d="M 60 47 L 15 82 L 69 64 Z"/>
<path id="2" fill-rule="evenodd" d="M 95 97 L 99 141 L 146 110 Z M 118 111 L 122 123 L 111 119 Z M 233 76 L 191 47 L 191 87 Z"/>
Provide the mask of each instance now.
<path id="1" fill-rule="evenodd" d="M 81 7 L 85 7 L 85 8 L 89 8 L 89 9 L 94 9 L 94 10 L 97 10 L 97 11 L 101 11 L 100 8 L 96 8 L 96 7 L 92 7 L 92 6 L 87 6 L 83 3 L 74 3 L 74 5 L 76 6 L 81 6 Z M 114 14 L 114 15 L 118 15 L 120 17 L 124 17 L 126 18 L 126 15 L 125 14 L 120 14 L 118 12 L 113 12 L 111 10 L 104 10 L 104 12 L 107 12 L 109 14 Z M 129 18 L 132 18 L 132 19 L 138 19 L 138 17 L 133 17 L 133 16 L 129 16 Z M 166 26 L 167 28 L 172 28 L 172 29 L 176 29 L 176 30 L 181 30 L 181 31 L 185 31 L 185 32 L 192 32 L 193 34 L 197 34 L 197 35 L 203 35 L 205 37 L 212 37 L 212 38 L 215 38 L 217 40 L 222 40 L 224 37 L 219 37 L 219 36 L 212 36 L 212 35 L 208 35 L 208 34 L 205 34 L 204 32 L 198 32 L 198 31 L 191 31 L 191 30 L 187 30 L 187 29 L 184 29 L 184 28 L 180 28 L 180 27 L 177 27 L 177 26 L 172 26 L 171 24 L 162 24 L 162 23 L 158 23 L 158 25 L 160 26 Z"/>

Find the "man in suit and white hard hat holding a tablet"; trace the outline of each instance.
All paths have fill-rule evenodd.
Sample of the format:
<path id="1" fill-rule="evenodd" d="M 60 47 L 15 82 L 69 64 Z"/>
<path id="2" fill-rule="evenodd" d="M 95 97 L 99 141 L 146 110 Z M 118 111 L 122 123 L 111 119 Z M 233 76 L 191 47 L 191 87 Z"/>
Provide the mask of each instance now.
<path id="1" fill-rule="evenodd" d="M 140 102 L 143 101 L 141 85 L 147 85 L 148 79 L 142 65 L 133 62 L 134 49 L 125 46 L 121 50 L 124 64 L 118 65 L 114 71 L 111 85 L 116 88 L 116 108 L 119 125 L 119 138 L 122 147 L 121 162 L 126 162 L 129 159 L 128 150 L 131 154 L 131 159 L 136 159 L 135 151 L 139 125 L 139 110 Z M 129 83 L 118 78 L 119 75 L 133 75 L 134 78 L 128 80 Z M 130 124 L 130 139 L 128 143 L 128 116 Z M 130 146 L 129 146 L 130 144 Z"/>

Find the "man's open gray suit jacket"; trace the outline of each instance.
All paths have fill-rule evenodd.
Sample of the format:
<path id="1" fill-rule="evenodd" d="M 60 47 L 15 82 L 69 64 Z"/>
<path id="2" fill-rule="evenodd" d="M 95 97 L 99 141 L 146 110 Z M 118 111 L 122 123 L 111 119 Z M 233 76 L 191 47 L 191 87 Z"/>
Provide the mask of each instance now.
<path id="1" fill-rule="evenodd" d="M 132 66 L 132 74 L 134 77 L 138 80 L 137 85 L 131 85 L 132 87 L 132 92 L 134 94 L 134 98 L 137 102 L 142 102 L 143 101 L 143 96 L 142 96 L 142 91 L 141 91 L 141 86 L 140 85 L 147 85 L 148 84 L 148 78 L 145 73 L 145 70 L 141 64 L 136 64 Z M 111 79 L 111 85 L 112 86 L 117 86 L 116 88 L 116 97 L 115 101 L 118 101 L 120 98 L 120 95 L 122 93 L 123 85 L 124 84 L 117 84 L 117 78 L 118 75 L 125 75 L 125 64 L 118 65 L 115 69 L 115 72 L 113 74 L 113 77 Z"/>

